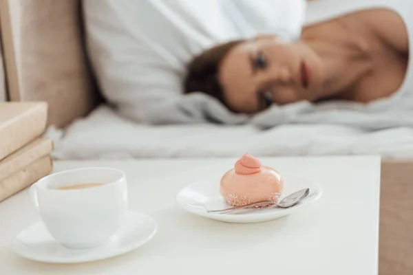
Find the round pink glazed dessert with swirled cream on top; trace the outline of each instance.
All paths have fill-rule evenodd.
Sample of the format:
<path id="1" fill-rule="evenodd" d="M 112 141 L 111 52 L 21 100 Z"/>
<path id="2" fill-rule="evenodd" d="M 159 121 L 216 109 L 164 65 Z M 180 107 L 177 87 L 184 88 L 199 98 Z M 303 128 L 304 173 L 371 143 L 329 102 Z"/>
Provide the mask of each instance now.
<path id="1" fill-rule="evenodd" d="M 220 184 L 221 194 L 230 206 L 267 200 L 278 202 L 283 190 L 282 175 L 273 168 L 262 166 L 259 159 L 248 153 L 222 176 Z"/>

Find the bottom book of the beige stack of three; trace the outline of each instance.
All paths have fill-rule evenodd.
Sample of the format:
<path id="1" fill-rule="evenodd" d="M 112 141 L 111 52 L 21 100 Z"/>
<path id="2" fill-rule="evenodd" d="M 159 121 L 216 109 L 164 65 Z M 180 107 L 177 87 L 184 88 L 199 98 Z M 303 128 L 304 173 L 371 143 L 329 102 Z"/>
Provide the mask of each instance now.
<path id="1" fill-rule="evenodd" d="M 25 168 L 0 180 L 0 201 L 34 184 L 36 181 L 52 173 L 53 164 L 50 155 L 37 159 Z"/>

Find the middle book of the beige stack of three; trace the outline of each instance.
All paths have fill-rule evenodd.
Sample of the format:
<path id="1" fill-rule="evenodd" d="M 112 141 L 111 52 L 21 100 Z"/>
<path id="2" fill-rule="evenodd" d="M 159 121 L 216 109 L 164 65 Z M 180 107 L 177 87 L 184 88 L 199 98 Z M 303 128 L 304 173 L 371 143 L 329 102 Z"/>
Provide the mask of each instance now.
<path id="1" fill-rule="evenodd" d="M 37 137 L 23 148 L 15 151 L 0 161 L 0 181 L 17 173 L 36 159 L 50 155 L 53 151 L 53 142 L 47 137 Z"/>

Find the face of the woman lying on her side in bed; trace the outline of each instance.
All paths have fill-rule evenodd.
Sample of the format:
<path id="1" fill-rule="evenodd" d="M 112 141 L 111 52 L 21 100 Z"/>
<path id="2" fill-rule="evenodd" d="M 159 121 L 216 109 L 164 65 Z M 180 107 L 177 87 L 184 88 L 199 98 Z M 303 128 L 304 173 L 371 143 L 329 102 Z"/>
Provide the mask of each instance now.
<path id="1" fill-rule="evenodd" d="M 218 77 L 233 111 L 256 113 L 272 103 L 319 99 L 322 71 L 319 57 L 306 45 L 260 36 L 235 46 Z"/>

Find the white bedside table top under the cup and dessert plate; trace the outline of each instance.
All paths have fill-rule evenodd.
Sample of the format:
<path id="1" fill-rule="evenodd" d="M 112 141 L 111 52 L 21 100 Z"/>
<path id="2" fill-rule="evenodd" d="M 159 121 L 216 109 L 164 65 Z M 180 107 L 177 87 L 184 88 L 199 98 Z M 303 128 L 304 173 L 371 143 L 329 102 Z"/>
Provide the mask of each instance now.
<path id="1" fill-rule="evenodd" d="M 23 190 L 0 203 L 0 274 L 378 274 L 379 157 L 263 158 L 280 173 L 297 173 L 324 189 L 316 203 L 275 221 L 222 223 L 176 205 L 181 188 L 200 177 L 219 180 L 234 161 L 55 162 L 56 171 L 125 170 L 130 210 L 156 219 L 158 233 L 138 250 L 104 261 L 29 261 L 10 249 L 14 236 L 40 219 Z"/>

